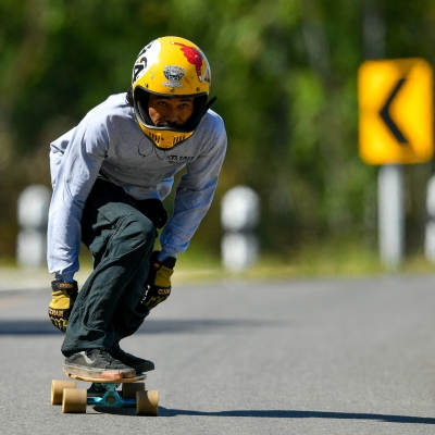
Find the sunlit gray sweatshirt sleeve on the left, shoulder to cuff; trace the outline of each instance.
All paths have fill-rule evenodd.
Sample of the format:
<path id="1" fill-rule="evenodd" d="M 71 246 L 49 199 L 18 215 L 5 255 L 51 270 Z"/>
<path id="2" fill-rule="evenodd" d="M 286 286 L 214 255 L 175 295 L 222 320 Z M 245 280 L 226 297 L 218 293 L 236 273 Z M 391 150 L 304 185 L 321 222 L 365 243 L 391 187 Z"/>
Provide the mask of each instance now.
<path id="1" fill-rule="evenodd" d="M 107 125 L 98 122 L 82 122 L 51 144 L 47 260 L 49 272 L 63 278 L 78 270 L 82 213 L 108 146 Z"/>

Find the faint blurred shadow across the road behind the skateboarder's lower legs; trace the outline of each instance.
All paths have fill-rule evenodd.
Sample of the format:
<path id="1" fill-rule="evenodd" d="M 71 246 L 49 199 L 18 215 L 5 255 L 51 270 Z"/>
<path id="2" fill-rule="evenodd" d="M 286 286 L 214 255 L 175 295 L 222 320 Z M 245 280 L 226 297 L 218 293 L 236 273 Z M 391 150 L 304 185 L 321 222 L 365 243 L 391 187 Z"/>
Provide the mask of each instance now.
<path id="1" fill-rule="evenodd" d="M 254 320 L 146 320 L 136 334 L 203 334 L 222 330 L 250 330 L 276 325 Z M 47 320 L 0 320 L 0 335 L 62 334 Z"/>

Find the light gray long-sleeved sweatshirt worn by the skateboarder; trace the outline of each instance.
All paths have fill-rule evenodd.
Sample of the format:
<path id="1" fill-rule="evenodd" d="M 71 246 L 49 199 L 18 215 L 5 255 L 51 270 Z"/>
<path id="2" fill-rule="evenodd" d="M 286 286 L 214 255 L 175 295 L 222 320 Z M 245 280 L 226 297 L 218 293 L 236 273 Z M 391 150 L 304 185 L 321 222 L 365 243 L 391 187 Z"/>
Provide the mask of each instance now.
<path id="1" fill-rule="evenodd" d="M 213 199 L 226 151 L 221 116 L 209 110 L 190 138 L 161 151 L 141 132 L 125 97 L 111 96 L 51 144 L 47 257 L 49 272 L 61 279 L 71 281 L 79 268 L 82 213 L 99 173 L 135 199 L 163 200 L 175 173 L 186 167 L 160 236 L 161 258 L 187 249 Z"/>

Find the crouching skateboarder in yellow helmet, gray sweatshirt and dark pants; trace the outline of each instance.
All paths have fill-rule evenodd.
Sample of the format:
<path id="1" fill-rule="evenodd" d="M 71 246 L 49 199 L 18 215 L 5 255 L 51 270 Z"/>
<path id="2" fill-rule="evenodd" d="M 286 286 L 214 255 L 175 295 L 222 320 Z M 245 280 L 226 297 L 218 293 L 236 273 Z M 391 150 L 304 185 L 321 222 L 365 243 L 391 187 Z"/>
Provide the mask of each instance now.
<path id="1" fill-rule="evenodd" d="M 69 373 L 132 377 L 154 368 L 124 352 L 120 340 L 170 296 L 176 256 L 212 201 L 226 133 L 209 91 L 202 51 L 183 38 L 158 38 L 140 51 L 126 94 L 111 96 L 51 144 L 49 318 L 65 333 Z M 162 200 L 183 169 L 167 220 Z M 157 228 L 161 251 L 153 251 Z M 94 271 L 78 293 L 80 241 Z"/>

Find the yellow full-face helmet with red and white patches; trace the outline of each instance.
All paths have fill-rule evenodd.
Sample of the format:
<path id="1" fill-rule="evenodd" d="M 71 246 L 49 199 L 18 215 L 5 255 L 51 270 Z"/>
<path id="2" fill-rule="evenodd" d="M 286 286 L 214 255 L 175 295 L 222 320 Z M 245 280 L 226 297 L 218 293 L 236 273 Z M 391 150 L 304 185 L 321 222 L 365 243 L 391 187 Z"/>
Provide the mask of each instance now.
<path id="1" fill-rule="evenodd" d="M 210 65 L 202 51 L 187 39 L 166 36 L 146 46 L 133 67 L 133 104 L 137 122 L 159 149 L 174 148 L 188 139 L 215 101 L 210 92 Z M 150 94 L 169 97 L 195 97 L 194 113 L 181 127 L 156 126 L 148 112 Z"/>

